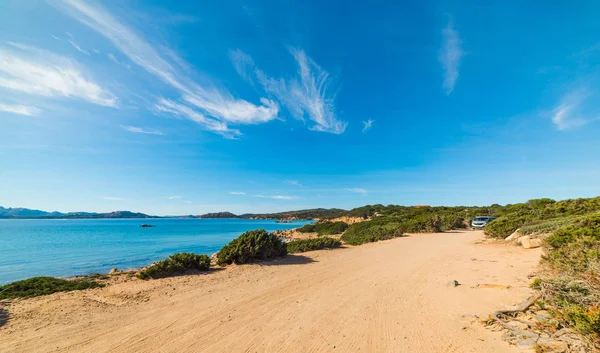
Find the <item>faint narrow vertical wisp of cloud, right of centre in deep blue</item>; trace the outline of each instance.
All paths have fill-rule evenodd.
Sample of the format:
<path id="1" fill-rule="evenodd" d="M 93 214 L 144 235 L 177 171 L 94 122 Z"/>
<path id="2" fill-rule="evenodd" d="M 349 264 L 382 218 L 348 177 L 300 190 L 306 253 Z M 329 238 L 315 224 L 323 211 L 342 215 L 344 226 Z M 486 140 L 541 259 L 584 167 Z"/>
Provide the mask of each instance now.
<path id="1" fill-rule="evenodd" d="M 454 29 L 452 21 L 448 22 L 446 28 L 442 30 L 442 41 L 438 59 L 444 69 L 444 91 L 446 95 L 449 95 L 454 91 L 454 85 L 459 74 L 460 60 L 464 55 L 460 37 Z"/>

